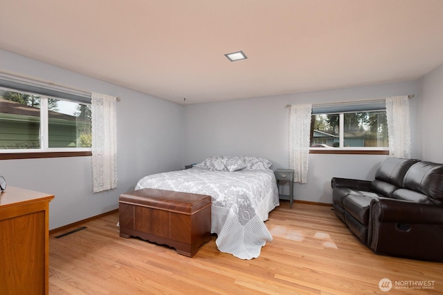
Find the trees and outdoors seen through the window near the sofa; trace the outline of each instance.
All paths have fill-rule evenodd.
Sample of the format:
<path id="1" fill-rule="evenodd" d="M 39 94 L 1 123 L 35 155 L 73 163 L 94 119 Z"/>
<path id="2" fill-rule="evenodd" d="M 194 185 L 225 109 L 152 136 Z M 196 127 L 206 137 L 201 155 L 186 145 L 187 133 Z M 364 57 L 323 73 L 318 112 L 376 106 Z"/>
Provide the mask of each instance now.
<path id="1" fill-rule="evenodd" d="M 311 147 L 387 146 L 386 111 L 318 114 L 311 117 Z"/>

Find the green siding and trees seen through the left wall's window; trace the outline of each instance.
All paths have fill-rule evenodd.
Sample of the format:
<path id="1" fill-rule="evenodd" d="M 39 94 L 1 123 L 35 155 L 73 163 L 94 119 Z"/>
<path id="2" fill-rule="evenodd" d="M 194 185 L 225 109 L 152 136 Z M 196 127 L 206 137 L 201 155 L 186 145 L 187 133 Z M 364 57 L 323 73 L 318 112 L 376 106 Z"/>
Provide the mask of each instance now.
<path id="1" fill-rule="evenodd" d="M 46 102 L 48 112 L 42 114 Z M 41 149 L 42 117 L 48 148 L 91 147 L 91 106 L 0 89 L 0 149 Z"/>

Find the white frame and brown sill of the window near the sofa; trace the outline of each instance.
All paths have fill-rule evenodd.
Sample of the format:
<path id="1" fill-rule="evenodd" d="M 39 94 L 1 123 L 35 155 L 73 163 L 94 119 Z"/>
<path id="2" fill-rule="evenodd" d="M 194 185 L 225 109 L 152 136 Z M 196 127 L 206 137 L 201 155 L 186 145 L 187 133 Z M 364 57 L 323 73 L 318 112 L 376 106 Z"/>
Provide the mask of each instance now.
<path id="1" fill-rule="evenodd" d="M 375 103 L 380 103 L 379 100 L 374 101 Z M 367 102 L 365 102 L 367 103 Z M 352 106 L 352 104 L 350 104 Z M 389 155 L 389 146 L 375 146 L 375 147 L 364 147 L 364 146 L 343 146 L 344 143 L 344 115 L 345 113 L 360 113 L 360 112 L 377 112 L 377 111 L 386 111 L 386 108 L 362 108 L 359 110 L 358 104 L 357 107 L 352 109 L 352 111 L 322 111 L 312 113 L 312 115 L 330 115 L 336 114 L 339 115 L 339 147 L 311 147 L 311 142 L 309 142 L 309 153 L 318 153 L 318 154 L 347 154 L 347 155 Z M 336 106 L 335 106 L 336 107 Z M 344 109 L 347 108 L 347 105 L 344 104 Z M 311 139 L 312 140 L 312 139 Z"/>

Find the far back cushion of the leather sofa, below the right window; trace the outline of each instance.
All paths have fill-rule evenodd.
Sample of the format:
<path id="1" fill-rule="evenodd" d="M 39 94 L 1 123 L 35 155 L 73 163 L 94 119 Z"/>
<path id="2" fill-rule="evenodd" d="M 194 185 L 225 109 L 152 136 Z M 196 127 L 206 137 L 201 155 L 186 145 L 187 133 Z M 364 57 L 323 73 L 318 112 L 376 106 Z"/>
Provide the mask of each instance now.
<path id="1" fill-rule="evenodd" d="M 403 185 L 408 169 L 417 162 L 419 160 L 416 159 L 386 158 L 375 172 L 371 190 L 381 196 L 392 197 L 392 193 Z"/>

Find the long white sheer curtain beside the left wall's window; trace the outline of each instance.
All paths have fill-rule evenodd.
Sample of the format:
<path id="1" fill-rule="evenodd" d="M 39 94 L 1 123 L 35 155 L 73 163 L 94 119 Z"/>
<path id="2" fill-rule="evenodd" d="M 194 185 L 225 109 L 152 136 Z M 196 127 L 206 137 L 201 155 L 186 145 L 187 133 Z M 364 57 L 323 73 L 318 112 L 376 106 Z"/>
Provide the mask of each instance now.
<path id="1" fill-rule="evenodd" d="M 92 93 L 93 192 L 117 187 L 116 97 Z"/>

